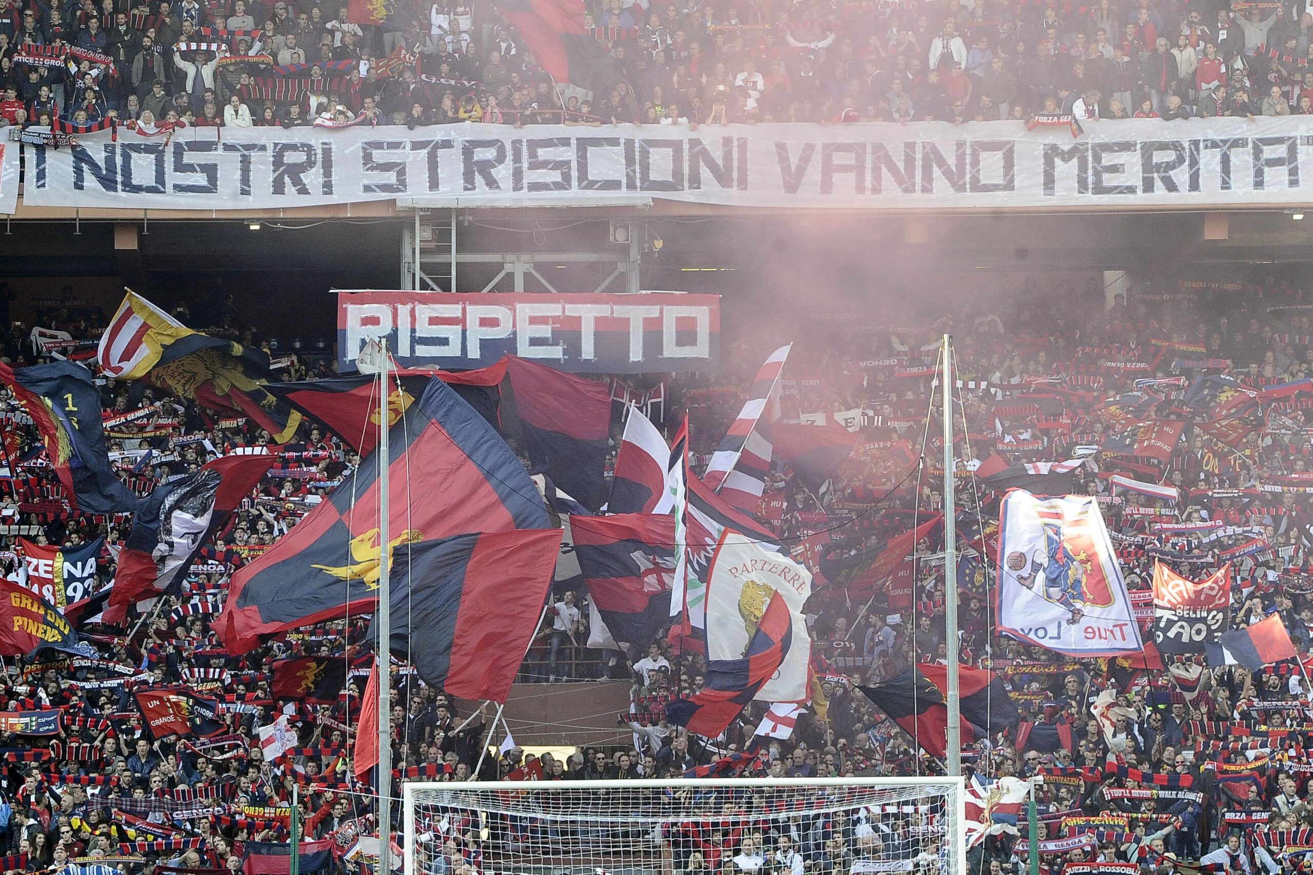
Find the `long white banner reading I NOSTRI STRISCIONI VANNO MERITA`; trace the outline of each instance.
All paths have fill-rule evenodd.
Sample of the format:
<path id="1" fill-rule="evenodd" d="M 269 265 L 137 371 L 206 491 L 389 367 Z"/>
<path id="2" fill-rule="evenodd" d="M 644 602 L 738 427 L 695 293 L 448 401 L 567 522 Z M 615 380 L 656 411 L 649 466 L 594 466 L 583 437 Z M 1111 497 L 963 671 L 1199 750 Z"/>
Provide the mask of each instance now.
<path id="1" fill-rule="evenodd" d="M 767 207 L 1306 203 L 1308 117 L 949 125 L 500 125 L 123 131 L 24 144 L 33 206 L 236 210 L 400 199 Z M 0 213 L 13 210 L 5 144 Z M 1305 167 L 1308 164 L 1308 167 Z"/>

